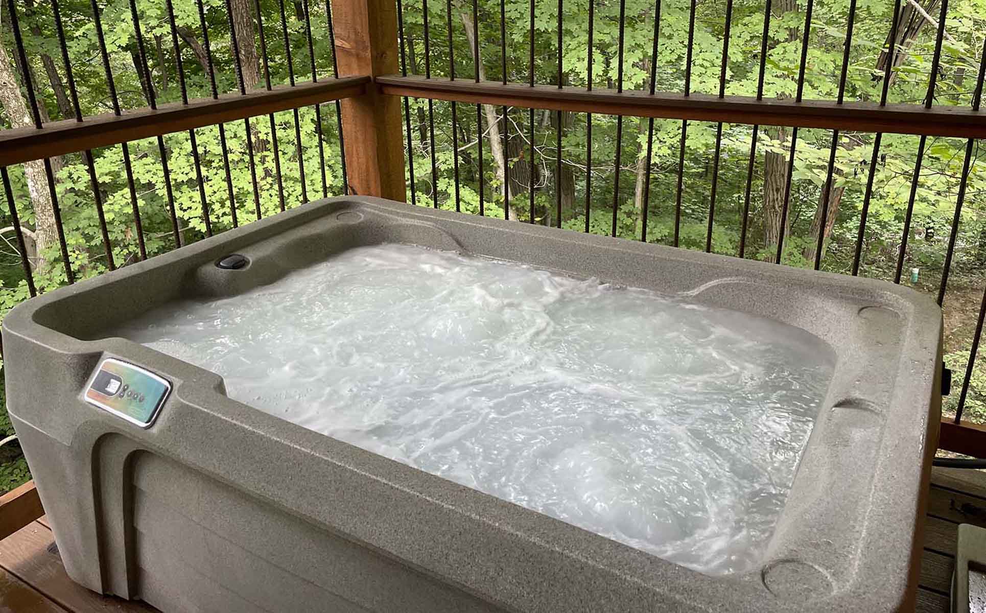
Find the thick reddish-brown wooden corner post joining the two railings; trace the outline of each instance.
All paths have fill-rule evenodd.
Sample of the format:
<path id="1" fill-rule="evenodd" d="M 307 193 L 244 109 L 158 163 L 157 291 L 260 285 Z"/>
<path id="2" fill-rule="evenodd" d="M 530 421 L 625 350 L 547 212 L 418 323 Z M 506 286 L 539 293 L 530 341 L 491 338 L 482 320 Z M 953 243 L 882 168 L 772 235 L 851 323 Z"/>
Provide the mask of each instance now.
<path id="1" fill-rule="evenodd" d="M 397 12 L 393 0 L 335 0 L 332 21 L 339 76 L 397 72 Z M 342 133 L 350 192 L 403 202 L 404 140 L 400 99 L 371 85 L 342 101 Z"/>

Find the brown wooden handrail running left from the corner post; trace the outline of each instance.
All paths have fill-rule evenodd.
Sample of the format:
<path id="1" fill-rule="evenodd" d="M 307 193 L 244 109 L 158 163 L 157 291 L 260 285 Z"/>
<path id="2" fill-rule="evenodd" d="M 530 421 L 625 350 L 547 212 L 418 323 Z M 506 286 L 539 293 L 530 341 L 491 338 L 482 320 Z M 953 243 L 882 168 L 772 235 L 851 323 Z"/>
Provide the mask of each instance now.
<path id="1" fill-rule="evenodd" d="M 316 102 L 362 96 L 369 83 L 368 76 L 342 77 L 295 87 L 277 87 L 269 92 L 225 94 L 218 99 L 199 99 L 187 104 L 173 102 L 157 109 L 124 110 L 120 115 L 104 113 L 85 117 L 82 121 L 53 121 L 42 128 L 0 130 L 0 166 L 53 158 Z"/>

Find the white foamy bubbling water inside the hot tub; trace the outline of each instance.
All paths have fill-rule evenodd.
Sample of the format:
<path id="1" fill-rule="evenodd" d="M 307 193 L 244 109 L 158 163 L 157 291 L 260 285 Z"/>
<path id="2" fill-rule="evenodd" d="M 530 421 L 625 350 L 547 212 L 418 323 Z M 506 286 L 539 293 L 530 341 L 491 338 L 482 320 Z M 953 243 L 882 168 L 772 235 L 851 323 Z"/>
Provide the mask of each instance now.
<path id="1" fill-rule="evenodd" d="M 761 560 L 832 374 L 778 322 L 401 244 L 117 334 L 262 411 L 709 574 Z"/>

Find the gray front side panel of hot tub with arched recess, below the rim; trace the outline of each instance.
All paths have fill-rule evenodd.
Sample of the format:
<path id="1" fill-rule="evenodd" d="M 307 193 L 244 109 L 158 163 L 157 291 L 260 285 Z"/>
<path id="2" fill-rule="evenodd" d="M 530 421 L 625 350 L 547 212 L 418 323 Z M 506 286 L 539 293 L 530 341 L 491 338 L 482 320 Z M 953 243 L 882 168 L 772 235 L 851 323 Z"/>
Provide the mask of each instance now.
<path id="1" fill-rule="evenodd" d="M 95 591 L 163 611 L 503 610 L 124 435 L 87 433 L 87 462 L 91 436 L 16 427 L 66 571 Z"/>

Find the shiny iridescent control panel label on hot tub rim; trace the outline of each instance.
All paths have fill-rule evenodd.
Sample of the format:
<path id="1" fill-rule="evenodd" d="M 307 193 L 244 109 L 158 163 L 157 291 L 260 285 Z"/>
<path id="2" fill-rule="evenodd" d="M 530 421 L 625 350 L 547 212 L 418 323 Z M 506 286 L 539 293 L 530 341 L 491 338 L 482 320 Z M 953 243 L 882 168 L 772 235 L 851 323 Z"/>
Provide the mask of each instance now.
<path id="1" fill-rule="evenodd" d="M 150 371 L 106 358 L 86 386 L 86 402 L 141 428 L 149 428 L 172 384 Z"/>

